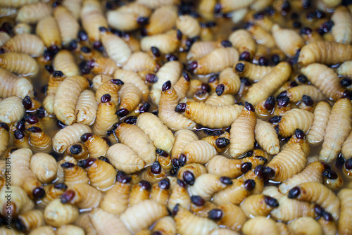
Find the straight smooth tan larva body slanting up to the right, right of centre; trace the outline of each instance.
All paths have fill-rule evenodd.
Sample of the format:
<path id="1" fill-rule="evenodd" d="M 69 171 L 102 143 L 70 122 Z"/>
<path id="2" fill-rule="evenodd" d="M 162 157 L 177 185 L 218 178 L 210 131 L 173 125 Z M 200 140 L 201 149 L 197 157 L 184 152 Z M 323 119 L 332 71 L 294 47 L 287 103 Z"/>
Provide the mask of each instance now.
<path id="1" fill-rule="evenodd" d="M 291 65 L 287 62 L 281 62 L 272 68 L 268 75 L 265 75 L 259 82 L 249 88 L 244 99 L 255 105 L 263 99 L 268 99 L 279 87 L 289 79 L 291 75 Z"/>

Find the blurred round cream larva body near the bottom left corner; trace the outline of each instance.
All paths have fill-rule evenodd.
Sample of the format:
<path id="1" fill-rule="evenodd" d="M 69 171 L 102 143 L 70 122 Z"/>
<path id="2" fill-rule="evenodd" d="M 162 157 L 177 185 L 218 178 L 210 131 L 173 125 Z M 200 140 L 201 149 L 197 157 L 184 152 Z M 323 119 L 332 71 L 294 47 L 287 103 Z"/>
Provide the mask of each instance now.
<path id="1" fill-rule="evenodd" d="M 74 205 L 63 204 L 60 199 L 56 199 L 46 206 L 44 210 L 44 220 L 46 224 L 53 227 L 61 227 L 65 224 L 75 222 L 78 214 L 78 208 Z"/>

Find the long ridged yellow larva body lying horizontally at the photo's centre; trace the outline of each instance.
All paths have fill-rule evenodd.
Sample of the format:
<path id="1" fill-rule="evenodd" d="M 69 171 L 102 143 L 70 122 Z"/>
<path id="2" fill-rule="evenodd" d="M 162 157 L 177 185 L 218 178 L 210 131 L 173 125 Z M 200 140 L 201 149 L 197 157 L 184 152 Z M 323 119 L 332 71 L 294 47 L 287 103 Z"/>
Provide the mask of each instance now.
<path id="1" fill-rule="evenodd" d="M 210 128 L 228 127 L 236 120 L 242 110 L 242 106 L 211 106 L 206 103 L 187 102 L 184 116 L 194 122 Z"/>

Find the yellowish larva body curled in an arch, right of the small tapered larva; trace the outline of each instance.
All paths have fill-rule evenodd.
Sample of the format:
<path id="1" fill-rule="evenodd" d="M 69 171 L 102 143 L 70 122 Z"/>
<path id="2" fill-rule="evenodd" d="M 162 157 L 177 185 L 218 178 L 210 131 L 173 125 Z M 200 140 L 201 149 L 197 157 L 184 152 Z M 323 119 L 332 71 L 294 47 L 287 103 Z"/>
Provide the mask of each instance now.
<path id="1" fill-rule="evenodd" d="M 298 108 L 292 108 L 282 115 L 279 122 L 279 134 L 283 137 L 289 137 L 296 129 L 301 129 L 307 133 L 313 122 L 313 113 Z"/>

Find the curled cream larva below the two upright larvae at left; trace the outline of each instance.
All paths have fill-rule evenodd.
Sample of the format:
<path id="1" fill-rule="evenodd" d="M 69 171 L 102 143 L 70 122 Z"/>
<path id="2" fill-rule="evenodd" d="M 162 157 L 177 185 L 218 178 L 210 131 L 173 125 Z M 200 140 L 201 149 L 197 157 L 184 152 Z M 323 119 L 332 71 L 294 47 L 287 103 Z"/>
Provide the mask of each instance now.
<path id="1" fill-rule="evenodd" d="M 80 137 L 84 133 L 90 133 L 92 130 L 83 124 L 74 123 L 58 131 L 53 138 L 54 151 L 63 153 L 68 146 L 80 141 Z"/>

